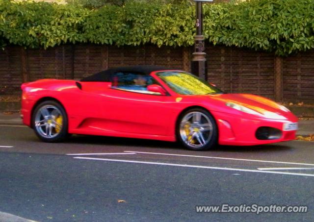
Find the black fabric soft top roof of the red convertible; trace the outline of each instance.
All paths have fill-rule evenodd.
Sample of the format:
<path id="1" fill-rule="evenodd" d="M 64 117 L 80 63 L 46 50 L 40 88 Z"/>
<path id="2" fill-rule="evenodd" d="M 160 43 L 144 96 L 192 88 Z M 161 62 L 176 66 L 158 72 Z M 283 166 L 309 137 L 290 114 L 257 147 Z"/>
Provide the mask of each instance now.
<path id="1" fill-rule="evenodd" d="M 154 71 L 161 71 L 161 70 L 171 70 L 170 68 L 165 68 L 161 66 L 130 66 L 130 67 L 119 67 L 119 68 L 113 68 L 108 69 L 105 71 L 102 71 L 97 74 L 93 74 L 90 76 L 87 76 L 85 78 L 82 78 L 81 82 L 110 82 L 111 81 L 111 75 L 115 73 L 138 73 L 138 74 L 150 74 Z"/>

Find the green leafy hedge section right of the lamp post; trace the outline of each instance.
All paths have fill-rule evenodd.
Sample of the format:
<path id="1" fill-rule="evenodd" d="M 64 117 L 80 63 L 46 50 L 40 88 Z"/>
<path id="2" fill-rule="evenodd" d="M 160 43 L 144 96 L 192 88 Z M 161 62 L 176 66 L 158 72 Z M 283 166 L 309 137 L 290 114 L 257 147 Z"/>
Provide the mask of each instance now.
<path id="1" fill-rule="evenodd" d="M 250 0 L 206 7 L 206 37 L 214 44 L 274 51 L 314 49 L 314 0 Z"/>

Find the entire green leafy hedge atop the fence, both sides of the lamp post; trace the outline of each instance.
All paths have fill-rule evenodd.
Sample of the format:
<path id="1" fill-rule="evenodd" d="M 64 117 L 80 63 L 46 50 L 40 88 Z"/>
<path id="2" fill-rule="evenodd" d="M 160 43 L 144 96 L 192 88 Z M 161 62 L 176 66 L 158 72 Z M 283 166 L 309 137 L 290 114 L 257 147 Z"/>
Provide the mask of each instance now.
<path id="1" fill-rule="evenodd" d="M 0 44 L 27 48 L 64 43 L 194 44 L 195 6 L 127 1 L 87 9 L 79 5 L 0 0 Z M 314 49 L 314 0 L 247 0 L 204 5 L 204 35 L 213 44 L 274 51 Z"/>

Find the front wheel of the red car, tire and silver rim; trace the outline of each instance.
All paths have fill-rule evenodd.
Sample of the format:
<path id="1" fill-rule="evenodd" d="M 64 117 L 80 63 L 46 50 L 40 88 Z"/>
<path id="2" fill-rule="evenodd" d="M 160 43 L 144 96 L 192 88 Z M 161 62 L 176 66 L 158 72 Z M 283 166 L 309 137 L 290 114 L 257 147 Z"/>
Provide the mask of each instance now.
<path id="1" fill-rule="evenodd" d="M 217 126 L 210 113 L 201 108 L 183 113 L 177 138 L 188 149 L 207 150 L 217 144 Z"/>

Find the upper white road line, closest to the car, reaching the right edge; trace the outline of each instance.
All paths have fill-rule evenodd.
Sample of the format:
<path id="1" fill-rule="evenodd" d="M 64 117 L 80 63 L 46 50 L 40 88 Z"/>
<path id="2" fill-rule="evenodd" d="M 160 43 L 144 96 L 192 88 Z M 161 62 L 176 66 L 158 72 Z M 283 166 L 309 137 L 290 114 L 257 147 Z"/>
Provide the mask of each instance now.
<path id="1" fill-rule="evenodd" d="M 293 163 L 293 162 L 280 162 L 280 161 L 269 161 L 269 160 L 236 159 L 236 158 L 215 157 L 215 156 L 195 156 L 195 155 L 183 155 L 183 154 L 173 154 L 173 153 L 158 153 L 158 152 L 137 152 L 137 151 L 125 151 L 125 152 L 168 155 L 168 156 L 187 156 L 187 157 L 199 157 L 199 158 L 222 159 L 222 160 L 239 160 L 239 161 L 251 161 L 251 162 L 262 162 L 262 163 L 280 163 L 280 164 L 314 166 L 314 164 L 310 164 L 310 163 Z"/>

